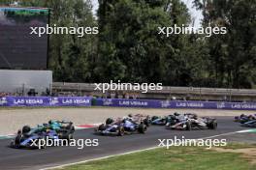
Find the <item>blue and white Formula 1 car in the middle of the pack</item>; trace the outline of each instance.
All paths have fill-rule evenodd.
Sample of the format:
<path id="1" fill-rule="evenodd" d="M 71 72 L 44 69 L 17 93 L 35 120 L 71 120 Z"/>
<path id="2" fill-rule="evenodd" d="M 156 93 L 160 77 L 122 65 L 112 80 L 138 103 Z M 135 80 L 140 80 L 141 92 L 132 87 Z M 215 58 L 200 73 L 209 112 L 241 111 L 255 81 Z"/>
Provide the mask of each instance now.
<path id="1" fill-rule="evenodd" d="M 140 124 L 137 124 L 132 122 L 130 119 L 117 119 L 116 121 L 113 121 L 109 118 L 105 124 L 95 128 L 95 132 L 102 135 L 112 134 L 123 136 L 124 134 L 131 134 L 135 132 L 144 133 L 146 129 L 147 128 L 143 121 Z"/>

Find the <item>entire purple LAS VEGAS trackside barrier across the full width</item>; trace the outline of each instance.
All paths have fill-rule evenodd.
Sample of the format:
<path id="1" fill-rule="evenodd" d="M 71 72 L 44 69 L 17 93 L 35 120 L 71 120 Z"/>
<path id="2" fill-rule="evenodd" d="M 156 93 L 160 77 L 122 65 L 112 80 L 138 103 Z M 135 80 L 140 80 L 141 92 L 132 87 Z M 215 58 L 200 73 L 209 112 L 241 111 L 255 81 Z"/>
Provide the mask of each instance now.
<path id="1" fill-rule="evenodd" d="M 256 110 L 256 102 L 183 101 L 159 99 L 92 99 L 89 97 L 4 97 L 0 106 L 112 106 Z"/>

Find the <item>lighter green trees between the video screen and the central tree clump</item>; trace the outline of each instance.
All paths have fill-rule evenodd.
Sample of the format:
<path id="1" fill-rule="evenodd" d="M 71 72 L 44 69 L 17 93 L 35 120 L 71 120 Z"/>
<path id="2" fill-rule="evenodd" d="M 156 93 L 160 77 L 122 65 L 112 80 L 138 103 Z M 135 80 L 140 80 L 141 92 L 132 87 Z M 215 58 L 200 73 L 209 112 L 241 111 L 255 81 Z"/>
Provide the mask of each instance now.
<path id="1" fill-rule="evenodd" d="M 50 9 L 50 26 L 94 27 L 90 1 L 84 0 L 19 0 L 24 7 Z M 53 71 L 55 81 L 93 82 L 95 35 L 50 35 L 48 69 Z"/>

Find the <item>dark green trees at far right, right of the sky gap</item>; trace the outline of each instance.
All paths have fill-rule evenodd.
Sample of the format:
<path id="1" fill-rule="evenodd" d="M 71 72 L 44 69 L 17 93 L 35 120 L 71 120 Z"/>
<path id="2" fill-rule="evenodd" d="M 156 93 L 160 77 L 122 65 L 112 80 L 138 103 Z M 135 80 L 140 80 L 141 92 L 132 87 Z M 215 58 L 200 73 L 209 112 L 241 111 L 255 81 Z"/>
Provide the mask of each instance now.
<path id="1" fill-rule="evenodd" d="M 194 0 L 203 10 L 203 25 L 225 26 L 228 34 L 208 39 L 216 86 L 251 88 L 255 83 L 256 2 Z"/>

